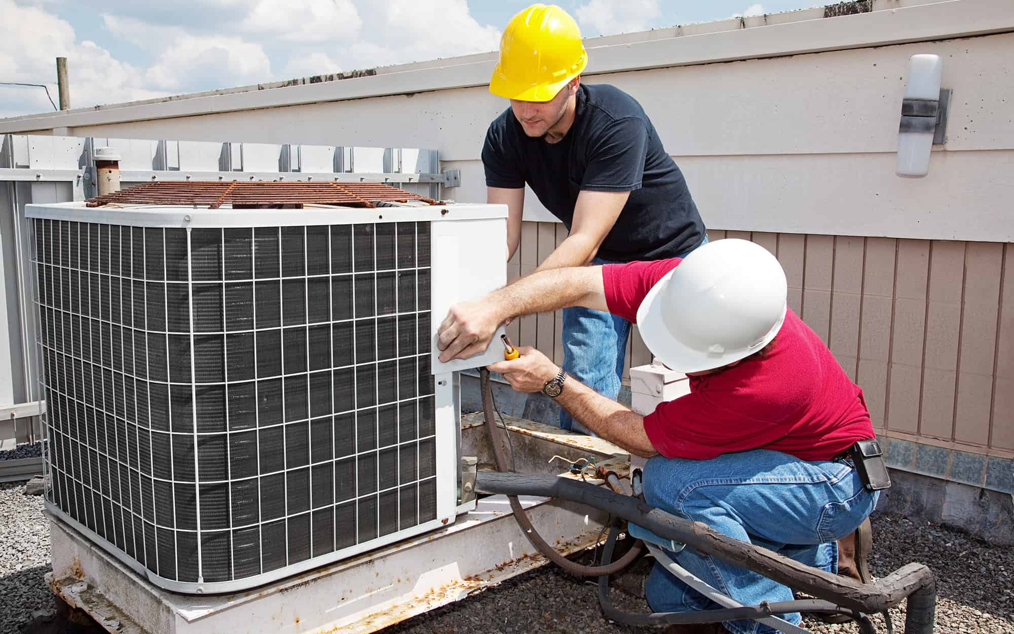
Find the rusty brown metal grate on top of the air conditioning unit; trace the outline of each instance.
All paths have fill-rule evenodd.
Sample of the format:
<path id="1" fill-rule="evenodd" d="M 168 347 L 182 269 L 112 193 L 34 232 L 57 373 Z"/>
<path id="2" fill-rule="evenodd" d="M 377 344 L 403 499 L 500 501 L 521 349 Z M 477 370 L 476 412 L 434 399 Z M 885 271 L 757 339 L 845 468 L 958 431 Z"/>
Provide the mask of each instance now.
<path id="1" fill-rule="evenodd" d="M 432 198 L 420 196 L 382 183 L 309 183 L 254 181 L 216 183 L 213 181 L 147 183 L 120 192 L 88 199 L 88 207 L 111 203 L 126 205 L 193 205 L 218 209 L 229 205 L 233 209 L 289 207 L 303 205 L 343 205 L 374 207 L 378 202 L 418 200 L 435 204 Z"/>

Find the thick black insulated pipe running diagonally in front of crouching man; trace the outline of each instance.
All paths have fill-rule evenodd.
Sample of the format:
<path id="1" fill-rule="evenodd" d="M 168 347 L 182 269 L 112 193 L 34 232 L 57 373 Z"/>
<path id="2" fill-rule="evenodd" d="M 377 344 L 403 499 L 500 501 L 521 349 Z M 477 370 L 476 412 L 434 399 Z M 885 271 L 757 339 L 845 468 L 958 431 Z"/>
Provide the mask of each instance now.
<path id="1" fill-rule="evenodd" d="M 856 612 L 873 614 L 915 596 L 919 616 L 907 619 L 908 634 L 930 634 L 928 615 L 934 606 L 933 572 L 922 564 L 908 564 L 876 583 L 858 583 L 852 579 L 806 566 L 765 548 L 744 544 L 689 519 L 653 508 L 641 500 L 618 495 L 608 489 L 553 476 L 507 473 L 480 473 L 476 490 L 506 495 L 545 495 L 571 500 L 604 510 L 635 522 L 655 535 L 686 544 L 700 553 L 751 570 L 779 583 L 831 602 Z"/>

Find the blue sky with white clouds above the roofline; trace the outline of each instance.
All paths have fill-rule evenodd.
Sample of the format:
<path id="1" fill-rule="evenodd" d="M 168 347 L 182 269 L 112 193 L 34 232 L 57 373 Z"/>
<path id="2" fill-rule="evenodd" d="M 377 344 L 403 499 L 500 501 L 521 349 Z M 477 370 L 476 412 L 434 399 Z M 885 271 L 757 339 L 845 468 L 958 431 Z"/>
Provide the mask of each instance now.
<path id="1" fill-rule="evenodd" d="M 68 59 L 85 108 L 498 48 L 527 0 L 0 0 L 0 82 L 48 84 Z M 816 0 L 560 0 L 585 38 L 822 4 Z M 0 85 L 0 118 L 54 110 Z"/>

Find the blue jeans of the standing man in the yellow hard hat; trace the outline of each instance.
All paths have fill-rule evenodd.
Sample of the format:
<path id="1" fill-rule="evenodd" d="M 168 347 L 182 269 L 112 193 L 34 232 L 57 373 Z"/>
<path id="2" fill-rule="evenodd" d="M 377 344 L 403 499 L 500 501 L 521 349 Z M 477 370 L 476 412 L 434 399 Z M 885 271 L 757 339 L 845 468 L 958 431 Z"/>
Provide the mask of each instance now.
<path id="1" fill-rule="evenodd" d="M 698 246 L 707 243 L 706 233 Z M 679 254 L 679 257 L 690 253 Z M 614 264 L 600 258 L 591 263 Z M 630 332 L 631 323 L 621 316 L 581 306 L 564 308 L 564 370 L 603 397 L 615 401 L 620 396 Z M 589 433 L 564 409 L 560 410 L 560 428 Z"/>

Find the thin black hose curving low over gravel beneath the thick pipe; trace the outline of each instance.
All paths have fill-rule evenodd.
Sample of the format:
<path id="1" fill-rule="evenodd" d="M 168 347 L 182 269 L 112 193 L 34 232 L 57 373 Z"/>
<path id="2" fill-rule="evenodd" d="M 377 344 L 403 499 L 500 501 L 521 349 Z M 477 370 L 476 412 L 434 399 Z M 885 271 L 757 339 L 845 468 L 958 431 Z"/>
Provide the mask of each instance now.
<path id="1" fill-rule="evenodd" d="M 605 541 L 605 548 L 602 549 L 603 563 L 608 563 L 612 558 L 612 549 L 617 545 L 617 535 L 619 533 L 615 527 L 609 531 L 609 537 Z M 742 608 L 701 610 L 698 612 L 624 612 L 612 605 L 612 601 L 609 598 L 609 578 L 604 576 L 598 578 L 598 603 L 601 605 L 602 614 L 605 615 L 606 619 L 636 627 L 721 623 L 722 621 L 756 619 L 758 617 L 770 617 L 793 612 L 841 614 L 849 618 L 856 617 L 856 614 L 851 610 L 836 606 L 830 602 L 814 598 L 762 604 L 759 606 L 743 606 Z"/>

